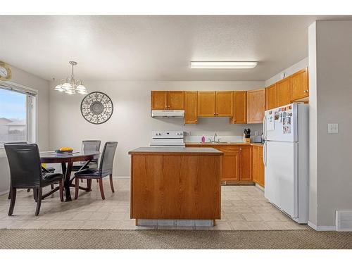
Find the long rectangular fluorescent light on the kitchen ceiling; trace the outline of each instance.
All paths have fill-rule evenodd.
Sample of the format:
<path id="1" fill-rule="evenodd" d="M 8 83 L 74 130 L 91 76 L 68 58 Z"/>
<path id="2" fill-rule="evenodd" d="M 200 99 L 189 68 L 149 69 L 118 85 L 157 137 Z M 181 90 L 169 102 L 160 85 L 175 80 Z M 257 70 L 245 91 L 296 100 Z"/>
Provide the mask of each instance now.
<path id="1" fill-rule="evenodd" d="M 256 61 L 191 61 L 191 69 L 251 69 Z"/>

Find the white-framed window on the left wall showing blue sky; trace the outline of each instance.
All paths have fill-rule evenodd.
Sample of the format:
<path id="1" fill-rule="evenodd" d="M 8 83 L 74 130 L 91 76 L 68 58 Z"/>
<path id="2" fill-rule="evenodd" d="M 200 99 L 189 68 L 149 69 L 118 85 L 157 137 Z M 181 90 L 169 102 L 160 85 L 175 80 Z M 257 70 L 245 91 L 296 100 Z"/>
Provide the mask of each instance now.
<path id="1" fill-rule="evenodd" d="M 35 142 L 35 93 L 0 84 L 0 147 L 6 142 Z"/>

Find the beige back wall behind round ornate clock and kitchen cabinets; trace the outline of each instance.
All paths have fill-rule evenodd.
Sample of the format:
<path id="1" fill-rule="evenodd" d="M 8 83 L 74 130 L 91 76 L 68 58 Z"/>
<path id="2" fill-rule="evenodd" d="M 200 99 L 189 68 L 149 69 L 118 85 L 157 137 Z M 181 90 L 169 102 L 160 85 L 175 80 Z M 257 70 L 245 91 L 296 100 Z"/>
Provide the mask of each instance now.
<path id="1" fill-rule="evenodd" d="M 80 113 L 83 96 L 68 96 L 50 89 L 50 147 L 80 149 L 83 139 L 118 141 L 115 175 L 130 177 L 127 152 L 148 146 L 152 130 L 183 130 L 191 134 L 241 135 L 244 127 L 261 133 L 261 125 L 230 125 L 229 118 L 199 119 L 198 125 L 183 125 L 174 118 L 154 119 L 150 115 L 151 90 L 247 90 L 264 87 L 264 82 L 84 82 L 89 92 L 108 94 L 114 105 L 111 120 L 92 125 Z M 51 84 L 53 87 L 54 84 Z"/>

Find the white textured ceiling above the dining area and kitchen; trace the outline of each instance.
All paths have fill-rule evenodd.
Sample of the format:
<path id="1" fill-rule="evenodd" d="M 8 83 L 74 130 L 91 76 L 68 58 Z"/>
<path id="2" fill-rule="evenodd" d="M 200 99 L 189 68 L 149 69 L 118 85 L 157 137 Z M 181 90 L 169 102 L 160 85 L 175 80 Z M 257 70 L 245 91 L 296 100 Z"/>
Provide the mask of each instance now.
<path id="1" fill-rule="evenodd" d="M 308 26 L 338 16 L 0 16 L 0 61 L 46 80 L 267 80 L 308 56 Z M 251 70 L 189 61 L 258 61 Z"/>

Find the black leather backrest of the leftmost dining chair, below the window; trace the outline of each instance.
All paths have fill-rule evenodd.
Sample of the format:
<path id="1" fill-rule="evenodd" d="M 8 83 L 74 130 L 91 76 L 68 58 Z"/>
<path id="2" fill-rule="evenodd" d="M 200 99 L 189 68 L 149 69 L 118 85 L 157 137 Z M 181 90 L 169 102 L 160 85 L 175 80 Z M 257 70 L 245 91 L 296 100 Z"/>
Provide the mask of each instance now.
<path id="1" fill-rule="evenodd" d="M 4 144 L 13 188 L 39 187 L 42 181 L 37 144 Z"/>

